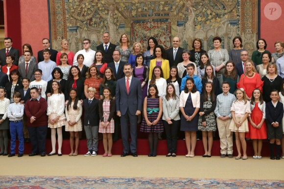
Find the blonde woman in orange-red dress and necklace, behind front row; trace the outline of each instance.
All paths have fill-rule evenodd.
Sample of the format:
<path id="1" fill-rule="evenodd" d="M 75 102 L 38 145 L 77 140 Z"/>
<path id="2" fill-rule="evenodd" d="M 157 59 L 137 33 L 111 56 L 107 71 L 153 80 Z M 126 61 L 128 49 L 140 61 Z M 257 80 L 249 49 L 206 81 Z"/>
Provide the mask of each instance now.
<path id="1" fill-rule="evenodd" d="M 245 72 L 240 76 L 237 88 L 243 88 L 246 93 L 248 101 L 251 100 L 253 90 L 260 89 L 262 92 L 263 81 L 261 81 L 260 74 L 257 73 L 256 68 L 252 61 L 245 64 Z"/>

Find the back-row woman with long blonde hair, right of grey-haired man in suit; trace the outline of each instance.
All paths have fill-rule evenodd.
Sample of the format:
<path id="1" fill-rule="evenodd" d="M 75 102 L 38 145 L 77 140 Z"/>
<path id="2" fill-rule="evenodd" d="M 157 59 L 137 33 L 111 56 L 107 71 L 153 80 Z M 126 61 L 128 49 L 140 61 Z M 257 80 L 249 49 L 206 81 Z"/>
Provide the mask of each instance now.
<path id="1" fill-rule="evenodd" d="M 130 47 L 130 40 L 128 36 L 124 33 L 120 36 L 119 46 L 116 47 L 116 50 L 120 52 L 122 62 L 128 63 L 129 56 L 132 51 L 132 47 Z"/>

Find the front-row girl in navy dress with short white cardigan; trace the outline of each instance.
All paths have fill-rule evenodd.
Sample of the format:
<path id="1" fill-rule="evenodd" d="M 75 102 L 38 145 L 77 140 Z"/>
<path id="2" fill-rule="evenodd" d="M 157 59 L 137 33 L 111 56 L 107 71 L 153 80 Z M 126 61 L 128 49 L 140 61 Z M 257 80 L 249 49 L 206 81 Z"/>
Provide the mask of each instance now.
<path id="1" fill-rule="evenodd" d="M 200 94 L 196 89 L 194 80 L 188 78 L 185 89 L 180 95 L 181 131 L 185 131 L 188 154 L 194 157 L 196 146 L 196 131 L 198 130 L 198 111 L 200 108 Z"/>

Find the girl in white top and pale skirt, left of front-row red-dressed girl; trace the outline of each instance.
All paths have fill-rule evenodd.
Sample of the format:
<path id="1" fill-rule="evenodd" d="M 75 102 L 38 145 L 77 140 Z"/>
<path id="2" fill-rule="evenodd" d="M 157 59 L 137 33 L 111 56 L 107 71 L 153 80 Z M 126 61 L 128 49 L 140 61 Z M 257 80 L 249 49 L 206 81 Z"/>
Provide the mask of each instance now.
<path id="1" fill-rule="evenodd" d="M 236 146 L 237 146 L 237 157 L 238 159 L 247 159 L 246 155 L 246 142 L 245 133 L 249 131 L 247 117 L 251 113 L 250 103 L 246 100 L 246 94 L 243 88 L 238 88 L 236 90 L 237 100 L 234 101 L 231 107 L 232 121 L 229 129 L 235 132 L 236 135 Z M 243 150 L 243 156 L 241 157 L 240 146 Z"/>

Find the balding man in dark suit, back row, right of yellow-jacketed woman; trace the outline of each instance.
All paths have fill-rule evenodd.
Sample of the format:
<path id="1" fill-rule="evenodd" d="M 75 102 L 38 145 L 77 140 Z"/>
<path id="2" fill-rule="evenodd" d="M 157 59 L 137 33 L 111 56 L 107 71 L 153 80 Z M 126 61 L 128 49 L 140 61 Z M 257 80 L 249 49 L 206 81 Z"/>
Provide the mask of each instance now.
<path id="1" fill-rule="evenodd" d="M 174 37 L 172 40 L 172 48 L 166 50 L 166 59 L 169 62 L 169 67 L 183 62 L 183 51 L 185 49 L 179 47 L 181 40 L 179 37 Z"/>

